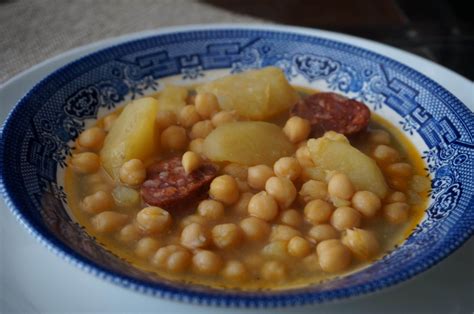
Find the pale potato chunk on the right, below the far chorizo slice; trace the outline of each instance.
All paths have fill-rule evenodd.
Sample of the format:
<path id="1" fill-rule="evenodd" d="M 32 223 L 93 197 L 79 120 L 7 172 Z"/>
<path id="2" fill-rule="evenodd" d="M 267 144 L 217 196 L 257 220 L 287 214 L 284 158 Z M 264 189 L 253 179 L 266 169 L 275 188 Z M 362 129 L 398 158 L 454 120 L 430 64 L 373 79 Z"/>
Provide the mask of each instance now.
<path id="1" fill-rule="evenodd" d="M 387 183 L 375 161 L 349 142 L 325 135 L 310 139 L 308 149 L 318 167 L 345 173 L 357 190 L 372 191 L 380 198 L 387 194 Z"/>

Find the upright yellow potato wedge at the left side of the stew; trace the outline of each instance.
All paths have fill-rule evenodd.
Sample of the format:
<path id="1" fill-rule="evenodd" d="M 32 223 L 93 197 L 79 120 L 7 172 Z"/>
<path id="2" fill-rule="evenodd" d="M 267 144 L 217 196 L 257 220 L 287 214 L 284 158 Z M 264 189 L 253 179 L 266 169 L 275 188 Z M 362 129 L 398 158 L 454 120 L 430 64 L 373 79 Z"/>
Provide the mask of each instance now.
<path id="1" fill-rule="evenodd" d="M 114 179 L 130 159 L 145 161 L 156 147 L 155 116 L 158 101 L 144 97 L 129 103 L 107 134 L 100 152 L 102 166 Z"/>

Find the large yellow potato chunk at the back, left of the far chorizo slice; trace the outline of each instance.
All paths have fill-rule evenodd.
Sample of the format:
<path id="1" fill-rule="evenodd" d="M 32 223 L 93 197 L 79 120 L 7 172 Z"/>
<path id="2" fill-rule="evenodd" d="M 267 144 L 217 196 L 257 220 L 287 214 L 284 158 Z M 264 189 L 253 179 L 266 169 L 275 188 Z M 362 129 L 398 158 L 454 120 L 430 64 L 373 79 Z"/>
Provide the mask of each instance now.
<path id="1" fill-rule="evenodd" d="M 226 76 L 197 88 L 217 96 L 225 110 L 235 110 L 251 120 L 265 120 L 289 109 L 298 94 L 276 67 Z"/>

